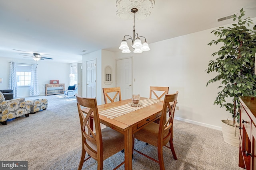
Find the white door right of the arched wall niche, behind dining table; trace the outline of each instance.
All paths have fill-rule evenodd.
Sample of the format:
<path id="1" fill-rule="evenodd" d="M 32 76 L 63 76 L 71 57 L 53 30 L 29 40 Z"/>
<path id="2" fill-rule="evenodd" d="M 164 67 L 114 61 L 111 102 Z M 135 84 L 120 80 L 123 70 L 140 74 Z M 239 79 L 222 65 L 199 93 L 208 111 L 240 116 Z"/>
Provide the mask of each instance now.
<path id="1" fill-rule="evenodd" d="M 132 97 L 132 58 L 116 61 L 116 86 L 121 88 L 122 100 Z"/>

